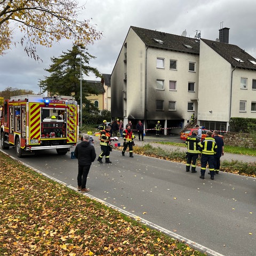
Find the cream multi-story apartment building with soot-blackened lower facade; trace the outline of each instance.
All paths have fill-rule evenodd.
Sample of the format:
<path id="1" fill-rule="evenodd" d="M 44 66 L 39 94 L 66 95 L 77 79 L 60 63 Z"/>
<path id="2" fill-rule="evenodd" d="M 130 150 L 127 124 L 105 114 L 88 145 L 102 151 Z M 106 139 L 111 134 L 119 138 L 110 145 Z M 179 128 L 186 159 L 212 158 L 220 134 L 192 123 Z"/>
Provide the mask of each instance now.
<path id="1" fill-rule="evenodd" d="M 220 40 L 130 27 L 111 74 L 111 115 L 161 121 L 179 132 L 195 113 L 207 129 L 228 130 L 230 117 L 256 117 L 256 60 Z"/>

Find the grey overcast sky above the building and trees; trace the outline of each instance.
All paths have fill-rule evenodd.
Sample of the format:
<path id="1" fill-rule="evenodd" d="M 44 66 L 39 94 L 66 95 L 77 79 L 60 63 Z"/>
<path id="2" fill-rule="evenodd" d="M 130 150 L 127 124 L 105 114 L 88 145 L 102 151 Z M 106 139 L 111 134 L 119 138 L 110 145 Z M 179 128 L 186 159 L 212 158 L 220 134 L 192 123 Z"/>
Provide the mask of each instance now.
<path id="1" fill-rule="evenodd" d="M 130 26 L 194 37 L 196 30 L 201 37 L 215 40 L 220 27 L 228 27 L 229 43 L 235 44 L 256 58 L 255 0 L 78 0 L 85 4 L 83 19 L 102 31 L 100 41 L 87 47 L 97 57 L 90 66 L 103 74 L 111 74 L 119 51 Z M 223 22 L 223 23 L 222 23 Z M 18 38 L 18 33 L 16 34 Z M 20 38 L 18 38 L 20 39 Z M 51 65 L 51 57 L 59 57 L 62 51 L 71 50 L 67 40 L 51 49 L 37 47 L 43 62 L 30 59 L 20 45 L 0 56 L 0 91 L 6 87 L 39 92 L 38 81 L 49 76 L 44 71 Z M 95 79 L 94 77 L 83 77 Z M 100 80 L 99 78 L 97 80 Z"/>

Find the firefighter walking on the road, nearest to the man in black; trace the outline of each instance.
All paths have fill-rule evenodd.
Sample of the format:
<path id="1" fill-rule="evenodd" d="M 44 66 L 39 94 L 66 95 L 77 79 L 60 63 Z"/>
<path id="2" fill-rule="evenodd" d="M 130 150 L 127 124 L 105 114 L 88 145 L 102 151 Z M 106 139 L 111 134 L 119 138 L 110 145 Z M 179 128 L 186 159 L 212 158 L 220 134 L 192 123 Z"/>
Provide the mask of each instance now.
<path id="1" fill-rule="evenodd" d="M 110 142 L 110 126 L 106 126 L 105 130 L 102 130 L 100 132 L 100 148 L 101 153 L 98 157 L 99 163 L 102 164 L 102 158 L 105 156 L 105 161 L 108 164 L 111 164 L 112 162 L 109 161 L 109 155 L 110 151 L 112 151 L 111 142 Z"/>

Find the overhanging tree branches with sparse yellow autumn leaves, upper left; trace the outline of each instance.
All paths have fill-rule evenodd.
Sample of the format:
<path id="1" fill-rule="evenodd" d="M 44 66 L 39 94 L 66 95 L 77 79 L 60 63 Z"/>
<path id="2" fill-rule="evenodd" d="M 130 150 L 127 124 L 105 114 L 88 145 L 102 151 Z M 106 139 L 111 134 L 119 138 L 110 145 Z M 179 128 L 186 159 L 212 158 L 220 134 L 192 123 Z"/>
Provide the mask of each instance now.
<path id="1" fill-rule="evenodd" d="M 11 49 L 13 34 L 19 30 L 21 44 L 32 58 L 38 59 L 36 45 L 51 47 L 62 38 L 86 45 L 101 37 L 89 20 L 78 20 L 84 6 L 73 0 L 0 1 L 0 55 Z"/>

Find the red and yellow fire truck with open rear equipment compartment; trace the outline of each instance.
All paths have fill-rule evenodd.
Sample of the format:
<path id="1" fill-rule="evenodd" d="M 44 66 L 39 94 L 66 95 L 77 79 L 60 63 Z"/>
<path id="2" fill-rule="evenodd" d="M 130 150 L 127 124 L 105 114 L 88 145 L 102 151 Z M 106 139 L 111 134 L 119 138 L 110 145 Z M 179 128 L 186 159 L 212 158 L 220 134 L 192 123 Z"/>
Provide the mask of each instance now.
<path id="1" fill-rule="evenodd" d="M 1 147 L 15 148 L 18 157 L 39 149 L 65 155 L 78 140 L 79 106 L 70 96 L 20 95 L 4 100 Z"/>

